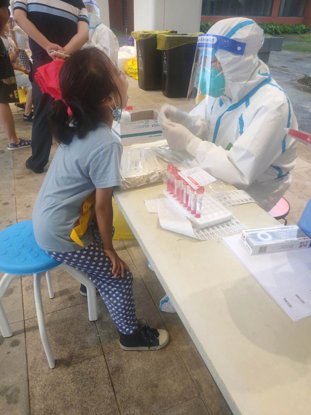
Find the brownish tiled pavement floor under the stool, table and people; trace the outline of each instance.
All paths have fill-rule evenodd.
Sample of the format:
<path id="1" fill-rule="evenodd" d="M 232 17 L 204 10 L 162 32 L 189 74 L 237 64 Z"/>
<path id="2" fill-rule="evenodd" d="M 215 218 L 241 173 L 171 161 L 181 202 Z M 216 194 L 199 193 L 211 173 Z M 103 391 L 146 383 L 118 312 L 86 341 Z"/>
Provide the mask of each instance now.
<path id="1" fill-rule="evenodd" d="M 129 105 L 136 111 L 159 109 L 166 102 L 188 111 L 193 107 L 161 92 L 145 92 L 133 78 L 128 80 Z M 16 121 L 16 129 L 19 137 L 31 137 L 31 125 L 22 120 Z M 26 169 L 29 149 L 7 151 L 6 141 L 0 125 L 0 230 L 31 217 L 45 176 Z M 53 145 L 51 158 L 55 150 Z M 298 153 L 292 186 L 285 194 L 291 204 L 289 224 L 297 223 L 311 197 L 311 151 L 299 145 Z M 51 370 L 39 336 L 33 277 L 16 278 L 2 300 L 13 337 L 0 336 L 0 414 L 231 414 L 179 317 L 159 310 L 164 290 L 137 242 L 119 240 L 115 246 L 134 275 L 138 316 L 151 327 L 169 330 L 169 345 L 159 352 L 124 352 L 101 298 L 99 319 L 89 322 L 79 283 L 65 271 L 52 271 L 53 300 L 42 278 L 46 325 L 56 359 Z"/>

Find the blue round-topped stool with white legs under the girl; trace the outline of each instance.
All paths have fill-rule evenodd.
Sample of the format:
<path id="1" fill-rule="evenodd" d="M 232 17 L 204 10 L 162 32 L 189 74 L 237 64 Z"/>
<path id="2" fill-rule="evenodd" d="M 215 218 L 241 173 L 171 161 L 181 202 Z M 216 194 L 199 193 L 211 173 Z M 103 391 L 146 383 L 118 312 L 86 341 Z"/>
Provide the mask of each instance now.
<path id="1" fill-rule="evenodd" d="M 34 274 L 34 298 L 39 331 L 51 369 L 55 366 L 55 360 L 46 332 L 40 280 L 41 276 L 46 274 L 48 293 L 50 298 L 53 298 L 54 292 L 51 280 L 51 269 L 53 268 L 68 271 L 74 278 L 86 286 L 89 320 L 97 320 L 96 288 L 94 284 L 82 271 L 63 262 L 56 261 L 39 247 L 34 237 L 32 220 L 15 223 L 0 232 L 0 271 L 5 273 L 0 281 L 0 330 L 2 336 L 11 337 L 13 334 L 1 304 L 3 296 L 16 276 Z"/>

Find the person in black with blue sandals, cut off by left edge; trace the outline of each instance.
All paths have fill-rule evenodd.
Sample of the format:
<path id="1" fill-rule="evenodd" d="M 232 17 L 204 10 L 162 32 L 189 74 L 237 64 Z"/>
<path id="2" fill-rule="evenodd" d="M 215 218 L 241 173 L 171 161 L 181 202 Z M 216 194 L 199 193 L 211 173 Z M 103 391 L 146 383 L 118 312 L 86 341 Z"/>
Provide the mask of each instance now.
<path id="1" fill-rule="evenodd" d="M 0 0 L 0 31 L 9 20 L 9 0 Z M 9 143 L 8 150 L 22 149 L 31 145 L 30 140 L 17 138 L 14 119 L 9 103 L 19 102 L 14 70 L 10 57 L 0 39 L 0 121 L 2 122 Z"/>

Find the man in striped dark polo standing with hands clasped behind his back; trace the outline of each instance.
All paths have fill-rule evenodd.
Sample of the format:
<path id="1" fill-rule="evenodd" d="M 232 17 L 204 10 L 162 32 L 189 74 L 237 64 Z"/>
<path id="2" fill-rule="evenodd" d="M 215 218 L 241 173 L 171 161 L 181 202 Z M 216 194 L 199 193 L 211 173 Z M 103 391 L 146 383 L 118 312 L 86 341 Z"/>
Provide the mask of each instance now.
<path id="1" fill-rule="evenodd" d="M 29 36 L 33 59 L 29 74 L 34 103 L 32 155 L 26 161 L 26 167 L 34 173 L 43 173 L 52 144 L 47 112 L 54 98 L 41 92 L 34 74 L 37 68 L 52 61 L 49 51 L 70 55 L 80 49 L 89 39 L 89 20 L 82 0 L 63 0 L 57 9 L 48 0 L 14 0 L 14 20 Z"/>

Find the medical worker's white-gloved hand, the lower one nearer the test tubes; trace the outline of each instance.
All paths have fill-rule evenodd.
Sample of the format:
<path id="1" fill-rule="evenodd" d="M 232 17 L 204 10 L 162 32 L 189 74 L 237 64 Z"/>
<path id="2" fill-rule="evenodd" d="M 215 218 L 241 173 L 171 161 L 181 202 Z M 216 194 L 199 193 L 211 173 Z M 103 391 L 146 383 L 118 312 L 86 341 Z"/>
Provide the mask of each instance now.
<path id="1" fill-rule="evenodd" d="M 186 127 L 176 122 L 163 121 L 161 128 L 171 149 L 186 149 L 193 140 L 197 139 Z"/>

